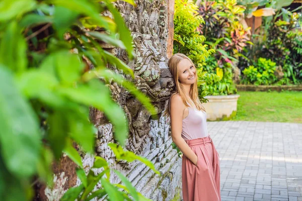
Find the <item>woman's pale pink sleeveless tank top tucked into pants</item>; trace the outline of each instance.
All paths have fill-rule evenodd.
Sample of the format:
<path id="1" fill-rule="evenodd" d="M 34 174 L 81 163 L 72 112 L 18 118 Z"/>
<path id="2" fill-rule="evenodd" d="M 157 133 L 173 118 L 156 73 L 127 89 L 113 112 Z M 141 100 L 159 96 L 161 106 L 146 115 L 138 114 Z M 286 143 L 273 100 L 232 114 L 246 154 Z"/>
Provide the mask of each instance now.
<path id="1" fill-rule="evenodd" d="M 194 140 L 208 136 L 206 112 L 188 108 L 189 114 L 183 119 L 181 136 L 184 140 Z"/>

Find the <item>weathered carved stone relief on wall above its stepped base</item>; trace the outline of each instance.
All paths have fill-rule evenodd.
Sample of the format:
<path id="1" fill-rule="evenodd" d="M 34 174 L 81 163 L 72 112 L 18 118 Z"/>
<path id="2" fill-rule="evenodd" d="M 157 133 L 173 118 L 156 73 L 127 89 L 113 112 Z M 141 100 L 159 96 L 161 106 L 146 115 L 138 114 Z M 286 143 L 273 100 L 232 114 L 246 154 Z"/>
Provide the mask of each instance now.
<path id="1" fill-rule="evenodd" d="M 133 8 L 125 2 L 117 2 L 126 26 L 131 31 L 136 58 L 128 61 L 124 50 L 117 50 L 117 56 L 134 70 L 134 84 L 148 95 L 155 105 L 157 116 L 151 117 L 146 109 L 129 93 L 110 87 L 114 97 L 129 120 L 127 148 L 140 154 L 149 142 L 150 120 L 161 117 L 166 100 L 174 83 L 167 62 L 168 9 L 167 2 L 137 0 Z"/>

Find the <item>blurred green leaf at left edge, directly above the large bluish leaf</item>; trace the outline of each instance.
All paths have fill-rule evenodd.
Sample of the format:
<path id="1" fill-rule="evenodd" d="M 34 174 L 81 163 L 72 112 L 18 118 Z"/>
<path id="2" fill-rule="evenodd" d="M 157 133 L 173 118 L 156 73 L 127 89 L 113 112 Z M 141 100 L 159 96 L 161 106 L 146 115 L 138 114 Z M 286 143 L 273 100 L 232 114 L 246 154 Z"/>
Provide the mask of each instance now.
<path id="1" fill-rule="evenodd" d="M 0 4 L 1 5 L 1 4 Z M 0 44 L 0 63 L 15 72 L 23 72 L 27 67 L 27 44 L 21 29 L 15 21 L 11 22 L 2 36 Z"/>

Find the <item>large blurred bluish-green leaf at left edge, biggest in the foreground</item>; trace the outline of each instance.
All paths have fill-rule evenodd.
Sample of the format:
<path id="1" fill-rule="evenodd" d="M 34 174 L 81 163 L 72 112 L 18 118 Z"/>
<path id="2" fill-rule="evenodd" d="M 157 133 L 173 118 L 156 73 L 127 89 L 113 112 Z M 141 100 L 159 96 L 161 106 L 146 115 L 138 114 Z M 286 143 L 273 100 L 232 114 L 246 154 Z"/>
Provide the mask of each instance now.
<path id="1" fill-rule="evenodd" d="M 36 171 L 41 151 L 39 125 L 12 73 L 4 66 L 0 66 L 0 94 L 0 147 L 4 163 L 16 177 L 30 177 Z"/>

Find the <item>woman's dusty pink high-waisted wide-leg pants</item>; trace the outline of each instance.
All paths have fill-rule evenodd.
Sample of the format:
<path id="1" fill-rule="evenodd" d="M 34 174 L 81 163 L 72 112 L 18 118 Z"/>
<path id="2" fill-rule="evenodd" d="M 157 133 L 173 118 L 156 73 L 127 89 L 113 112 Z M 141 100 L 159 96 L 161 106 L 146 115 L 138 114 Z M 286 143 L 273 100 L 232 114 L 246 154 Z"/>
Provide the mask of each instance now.
<path id="1" fill-rule="evenodd" d="M 197 155 L 197 165 L 182 158 L 184 201 L 220 201 L 219 155 L 210 136 L 186 141 Z"/>

